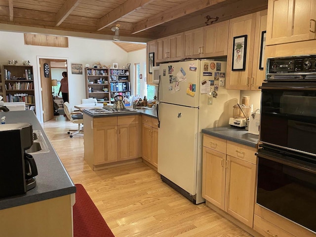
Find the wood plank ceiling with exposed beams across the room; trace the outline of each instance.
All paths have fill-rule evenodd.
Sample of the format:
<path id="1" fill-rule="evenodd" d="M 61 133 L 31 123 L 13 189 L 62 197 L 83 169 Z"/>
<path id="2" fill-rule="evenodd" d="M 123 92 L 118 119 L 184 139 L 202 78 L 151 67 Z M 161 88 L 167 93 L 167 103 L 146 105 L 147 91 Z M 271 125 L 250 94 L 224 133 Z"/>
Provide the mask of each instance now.
<path id="1" fill-rule="evenodd" d="M 266 9 L 268 0 L 0 0 L 0 30 L 146 42 Z"/>

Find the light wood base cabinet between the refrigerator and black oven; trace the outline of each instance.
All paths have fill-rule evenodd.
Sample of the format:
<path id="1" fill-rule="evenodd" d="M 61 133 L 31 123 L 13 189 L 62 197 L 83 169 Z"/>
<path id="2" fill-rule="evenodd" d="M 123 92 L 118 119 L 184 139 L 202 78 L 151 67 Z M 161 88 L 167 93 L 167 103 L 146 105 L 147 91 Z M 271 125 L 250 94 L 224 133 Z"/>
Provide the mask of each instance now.
<path id="1" fill-rule="evenodd" d="M 255 148 L 203 135 L 202 197 L 253 226 Z"/>

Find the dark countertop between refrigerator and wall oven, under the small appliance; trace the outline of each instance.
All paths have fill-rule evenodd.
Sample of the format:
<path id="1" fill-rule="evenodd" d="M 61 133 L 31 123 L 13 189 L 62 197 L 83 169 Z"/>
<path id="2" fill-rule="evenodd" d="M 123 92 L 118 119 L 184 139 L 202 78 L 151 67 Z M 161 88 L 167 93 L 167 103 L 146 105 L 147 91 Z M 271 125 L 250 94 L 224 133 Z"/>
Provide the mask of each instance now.
<path id="1" fill-rule="evenodd" d="M 259 135 L 248 133 L 248 131 L 232 126 L 213 127 L 202 129 L 202 133 L 226 139 L 232 142 L 257 148 Z"/>

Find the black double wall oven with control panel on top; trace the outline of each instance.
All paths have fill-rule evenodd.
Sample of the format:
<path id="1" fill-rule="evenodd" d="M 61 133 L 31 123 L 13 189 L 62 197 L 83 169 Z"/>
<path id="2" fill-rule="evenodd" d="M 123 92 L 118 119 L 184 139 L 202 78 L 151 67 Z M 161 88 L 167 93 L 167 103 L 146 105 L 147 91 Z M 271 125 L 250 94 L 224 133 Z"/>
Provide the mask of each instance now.
<path id="1" fill-rule="evenodd" d="M 316 55 L 268 58 L 257 204 L 316 233 Z"/>

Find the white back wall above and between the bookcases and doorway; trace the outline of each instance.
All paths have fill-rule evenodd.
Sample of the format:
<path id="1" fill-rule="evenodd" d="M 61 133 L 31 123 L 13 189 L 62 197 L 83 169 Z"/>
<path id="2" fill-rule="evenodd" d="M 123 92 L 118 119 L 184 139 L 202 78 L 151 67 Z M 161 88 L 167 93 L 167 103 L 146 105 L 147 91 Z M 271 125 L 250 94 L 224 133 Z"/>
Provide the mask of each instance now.
<path id="1" fill-rule="evenodd" d="M 146 58 L 145 51 L 141 50 Z M 140 57 L 140 52 L 134 52 L 133 55 Z M 80 104 L 81 98 L 85 98 L 85 79 L 84 74 L 71 74 L 71 64 L 86 64 L 92 66 L 93 63 L 101 63 L 106 66 L 113 66 L 118 63 L 118 67 L 126 66 L 127 63 L 136 62 L 132 56 L 118 47 L 112 41 L 106 40 L 89 40 L 69 37 L 69 47 L 46 47 L 33 46 L 24 44 L 23 33 L 0 32 L 0 65 L 7 64 L 7 60 L 18 60 L 21 64 L 23 60 L 29 60 L 33 65 L 34 86 L 36 97 L 36 114 L 42 122 L 42 103 L 40 96 L 40 79 L 39 79 L 39 58 L 56 58 L 66 59 L 68 62 L 68 79 L 69 79 L 69 100 L 71 106 Z M 146 60 L 146 59 L 145 59 Z M 133 75 L 133 74 L 131 74 Z"/>

